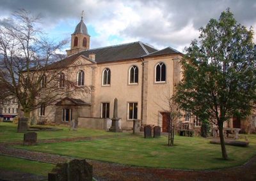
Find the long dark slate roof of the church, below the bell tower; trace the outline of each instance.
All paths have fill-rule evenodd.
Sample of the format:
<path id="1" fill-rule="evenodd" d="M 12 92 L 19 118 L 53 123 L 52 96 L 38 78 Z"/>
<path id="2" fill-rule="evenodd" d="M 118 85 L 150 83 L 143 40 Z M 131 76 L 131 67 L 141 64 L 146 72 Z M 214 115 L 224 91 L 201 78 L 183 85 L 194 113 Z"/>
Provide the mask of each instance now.
<path id="1" fill-rule="evenodd" d="M 49 65 L 48 69 L 54 68 L 64 68 L 69 64 L 72 64 L 77 57 L 84 56 L 84 58 L 88 59 L 92 63 L 104 63 L 104 62 L 112 62 L 112 61 L 124 61 L 129 59 L 138 59 L 143 57 L 144 55 L 151 54 L 156 52 L 157 49 L 150 47 L 141 41 L 136 41 L 133 43 L 126 43 L 122 45 L 115 45 L 110 47 L 102 47 L 102 48 L 93 48 L 90 50 L 84 50 L 83 52 L 79 52 L 74 55 L 70 55 L 61 61 L 54 62 Z M 95 61 L 89 59 L 90 54 L 95 54 Z"/>

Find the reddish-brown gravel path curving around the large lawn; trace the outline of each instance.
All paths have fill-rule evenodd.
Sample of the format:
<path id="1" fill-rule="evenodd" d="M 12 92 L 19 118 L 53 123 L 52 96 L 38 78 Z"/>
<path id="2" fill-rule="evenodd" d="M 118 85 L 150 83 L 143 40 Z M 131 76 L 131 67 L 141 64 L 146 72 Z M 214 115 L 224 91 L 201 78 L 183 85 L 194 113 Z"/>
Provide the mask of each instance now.
<path id="1" fill-rule="evenodd" d="M 106 138 L 104 136 L 93 138 Z M 78 138 L 76 138 L 77 140 Z M 42 142 L 49 143 L 44 140 Z M 55 141 L 74 141 L 72 139 L 58 139 Z M 51 142 L 52 143 L 52 142 Z M 12 143 L 13 144 L 13 143 Z M 17 144 L 17 143 L 16 143 Z M 22 157 L 47 163 L 58 163 L 72 159 L 72 157 L 58 156 L 55 154 L 44 154 L 29 150 L 21 150 L 9 147 L 10 144 L 0 145 L 0 154 Z M 115 163 L 104 163 L 100 161 L 86 160 L 93 165 L 93 177 L 97 180 L 256 180 L 256 156 L 250 159 L 248 163 L 233 168 L 222 170 L 193 171 L 193 170 L 175 170 L 160 168 L 143 168 L 135 166 L 126 166 Z M 1 170 L 0 170 L 1 176 Z M 1 177 L 0 177 L 1 180 Z M 12 179 L 11 179 L 12 180 Z"/>

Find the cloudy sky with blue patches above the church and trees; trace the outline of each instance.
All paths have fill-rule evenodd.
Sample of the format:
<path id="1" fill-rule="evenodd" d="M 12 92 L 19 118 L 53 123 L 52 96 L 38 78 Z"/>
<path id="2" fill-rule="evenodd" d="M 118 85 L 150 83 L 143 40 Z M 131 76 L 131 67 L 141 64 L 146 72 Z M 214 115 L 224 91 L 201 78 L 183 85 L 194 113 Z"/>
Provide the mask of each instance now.
<path id="1" fill-rule="evenodd" d="M 84 10 L 91 48 L 143 41 L 182 52 L 198 37 L 200 27 L 210 18 L 218 19 L 228 7 L 237 22 L 256 31 L 255 0 L 0 0 L 0 4 L 2 22 L 19 8 L 40 13 L 44 31 L 55 40 L 70 38 Z"/>

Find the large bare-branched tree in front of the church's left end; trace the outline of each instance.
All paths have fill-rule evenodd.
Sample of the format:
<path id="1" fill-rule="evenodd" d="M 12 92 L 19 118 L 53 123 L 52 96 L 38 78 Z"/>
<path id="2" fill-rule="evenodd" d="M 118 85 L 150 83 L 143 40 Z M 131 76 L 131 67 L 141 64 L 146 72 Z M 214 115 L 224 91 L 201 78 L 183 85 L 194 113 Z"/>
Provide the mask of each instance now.
<path id="1" fill-rule="evenodd" d="M 0 25 L 1 87 L 19 100 L 25 117 L 42 104 L 51 105 L 78 88 L 76 80 L 65 80 L 65 89 L 60 89 L 65 68 L 58 66 L 58 52 L 67 41 L 48 40 L 38 23 L 39 16 L 19 10 L 13 13 L 10 23 Z"/>

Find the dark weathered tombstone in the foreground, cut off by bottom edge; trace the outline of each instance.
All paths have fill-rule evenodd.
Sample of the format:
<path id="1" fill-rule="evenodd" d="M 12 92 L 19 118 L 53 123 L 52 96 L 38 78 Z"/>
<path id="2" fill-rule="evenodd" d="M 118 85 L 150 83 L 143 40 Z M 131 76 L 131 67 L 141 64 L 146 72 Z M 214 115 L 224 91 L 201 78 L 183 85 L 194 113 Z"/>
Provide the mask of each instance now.
<path id="1" fill-rule="evenodd" d="M 92 165 L 85 159 L 72 159 L 67 163 L 58 163 L 55 168 L 48 173 L 49 181 L 61 180 L 92 180 Z"/>

